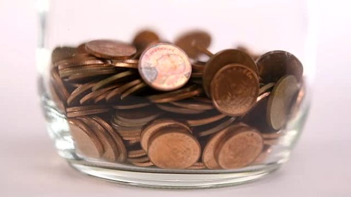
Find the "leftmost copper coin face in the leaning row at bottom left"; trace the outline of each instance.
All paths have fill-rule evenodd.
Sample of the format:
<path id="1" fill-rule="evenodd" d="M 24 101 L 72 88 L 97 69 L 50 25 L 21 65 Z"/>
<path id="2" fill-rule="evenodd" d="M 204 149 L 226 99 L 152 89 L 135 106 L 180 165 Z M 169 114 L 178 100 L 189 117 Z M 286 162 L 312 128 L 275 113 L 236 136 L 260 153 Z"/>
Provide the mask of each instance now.
<path id="1" fill-rule="evenodd" d="M 102 157 L 104 147 L 96 134 L 78 119 L 68 119 L 68 123 L 76 151 L 89 158 Z"/>

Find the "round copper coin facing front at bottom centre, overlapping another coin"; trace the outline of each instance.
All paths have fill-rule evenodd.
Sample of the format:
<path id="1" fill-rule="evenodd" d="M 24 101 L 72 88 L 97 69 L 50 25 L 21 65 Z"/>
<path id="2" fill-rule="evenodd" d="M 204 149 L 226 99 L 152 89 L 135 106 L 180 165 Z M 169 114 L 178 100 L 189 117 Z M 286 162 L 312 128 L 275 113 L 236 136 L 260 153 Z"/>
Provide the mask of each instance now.
<path id="1" fill-rule="evenodd" d="M 161 128 L 148 142 L 150 161 L 160 168 L 184 169 L 196 163 L 201 146 L 186 128 Z"/>

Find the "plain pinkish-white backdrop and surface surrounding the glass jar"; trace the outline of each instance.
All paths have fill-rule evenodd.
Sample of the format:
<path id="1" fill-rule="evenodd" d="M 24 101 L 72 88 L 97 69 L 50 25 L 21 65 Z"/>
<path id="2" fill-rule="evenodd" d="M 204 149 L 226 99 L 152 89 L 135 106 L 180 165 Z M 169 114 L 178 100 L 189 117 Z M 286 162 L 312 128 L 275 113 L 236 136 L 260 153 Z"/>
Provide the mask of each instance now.
<path id="1" fill-rule="evenodd" d="M 36 92 L 34 3 L 0 0 L 0 196 L 350 196 L 350 6 L 318 2 L 314 99 L 288 163 L 236 187 L 152 190 L 85 176 L 56 155 Z"/>

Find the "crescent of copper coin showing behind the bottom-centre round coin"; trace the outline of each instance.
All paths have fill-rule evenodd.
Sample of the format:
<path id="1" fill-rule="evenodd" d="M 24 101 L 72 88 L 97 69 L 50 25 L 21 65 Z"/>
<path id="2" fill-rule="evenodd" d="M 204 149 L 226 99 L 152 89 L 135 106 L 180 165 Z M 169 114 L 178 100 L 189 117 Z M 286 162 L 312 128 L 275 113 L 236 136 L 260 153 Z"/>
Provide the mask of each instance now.
<path id="1" fill-rule="evenodd" d="M 145 126 L 141 134 L 140 145 L 145 151 L 147 151 L 148 149 L 148 141 L 150 137 L 162 127 L 183 127 L 186 128 L 188 132 L 191 132 L 190 128 L 185 123 L 179 121 L 175 121 L 172 119 L 154 120 Z"/>

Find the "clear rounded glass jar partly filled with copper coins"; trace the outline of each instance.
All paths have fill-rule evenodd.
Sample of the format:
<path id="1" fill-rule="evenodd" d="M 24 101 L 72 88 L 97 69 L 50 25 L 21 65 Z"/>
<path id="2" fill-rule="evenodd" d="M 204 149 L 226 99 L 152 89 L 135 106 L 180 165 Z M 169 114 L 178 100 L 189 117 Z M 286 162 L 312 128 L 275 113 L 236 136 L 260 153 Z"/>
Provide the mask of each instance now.
<path id="1" fill-rule="evenodd" d="M 308 112 L 309 8 L 38 1 L 39 89 L 57 151 L 81 172 L 146 187 L 265 176 L 288 160 Z"/>

